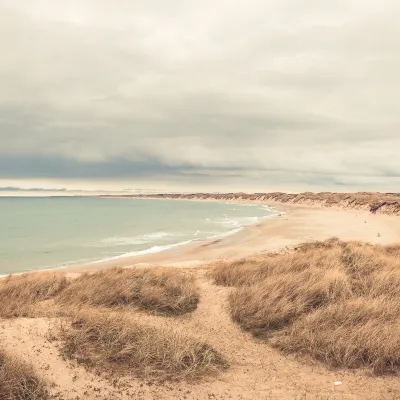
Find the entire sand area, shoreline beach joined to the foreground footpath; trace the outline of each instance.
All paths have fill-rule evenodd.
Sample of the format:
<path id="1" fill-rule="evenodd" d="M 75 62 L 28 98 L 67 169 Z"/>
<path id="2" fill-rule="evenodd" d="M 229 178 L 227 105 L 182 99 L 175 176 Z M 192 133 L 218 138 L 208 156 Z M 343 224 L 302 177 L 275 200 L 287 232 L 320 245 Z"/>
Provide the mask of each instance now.
<path id="1" fill-rule="evenodd" d="M 44 308 L 38 308 L 39 314 L 33 314 L 32 317 L 28 313 L 22 318 L 0 319 L 2 327 L 0 339 L 4 349 L 17 355 L 21 360 L 34 363 L 39 375 L 52 385 L 50 392 L 55 396 L 52 398 L 70 400 L 77 398 L 394 400 L 400 398 L 400 384 L 395 376 L 371 376 L 362 369 L 352 371 L 345 368 L 329 368 L 315 361 L 285 355 L 262 340 L 253 338 L 249 332 L 235 324 L 230 316 L 229 298 L 235 289 L 218 286 L 210 277 L 210 271 L 215 267 L 215 263 L 212 262 L 215 260 L 235 260 L 263 252 L 289 249 L 302 242 L 331 237 L 374 244 L 399 242 L 400 218 L 358 210 L 268 204 L 284 214 L 264 220 L 259 225 L 248 227 L 231 236 L 157 254 L 126 257 L 61 270 L 67 272 L 67 276 L 79 277 L 84 271 L 95 272 L 98 269 L 115 266 L 164 265 L 169 266 L 168 271 L 189 279 L 193 278 L 200 301 L 192 313 L 166 318 L 135 308 L 117 312 L 127 315 L 132 322 L 143 323 L 154 329 L 171 329 L 209 343 L 226 356 L 229 363 L 227 371 L 204 378 L 195 384 L 185 380 L 160 383 L 133 376 L 119 380 L 116 385 L 117 380 L 111 381 L 105 375 L 94 374 L 75 361 L 66 362 L 59 351 L 59 339 L 49 341 L 49 337 L 58 335 L 57 326 L 63 319 L 63 317 L 54 318 L 51 314 L 51 312 L 57 313 L 57 306 L 52 300 L 39 303 L 39 306 L 45 307 L 46 311 Z M 126 269 L 125 272 L 133 272 L 133 269 Z M 102 287 L 107 288 L 104 290 L 107 292 L 115 290 L 118 285 L 110 283 Z M 101 290 L 95 290 L 95 293 L 100 292 Z M 107 308 L 100 310 L 105 314 L 113 313 Z M 61 316 L 63 312 L 62 310 Z"/>

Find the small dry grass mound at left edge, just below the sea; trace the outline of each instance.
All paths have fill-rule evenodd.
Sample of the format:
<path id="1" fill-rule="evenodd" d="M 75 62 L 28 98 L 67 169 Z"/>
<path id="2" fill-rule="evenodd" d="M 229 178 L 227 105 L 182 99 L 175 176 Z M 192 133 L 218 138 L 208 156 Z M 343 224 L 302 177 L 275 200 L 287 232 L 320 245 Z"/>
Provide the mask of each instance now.
<path id="1" fill-rule="evenodd" d="M 38 303 L 53 299 L 68 286 L 61 273 L 33 272 L 0 279 L 0 318 L 42 315 Z"/>

